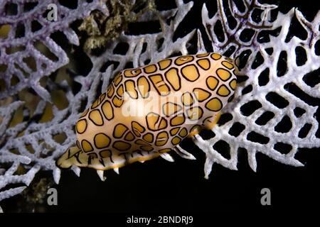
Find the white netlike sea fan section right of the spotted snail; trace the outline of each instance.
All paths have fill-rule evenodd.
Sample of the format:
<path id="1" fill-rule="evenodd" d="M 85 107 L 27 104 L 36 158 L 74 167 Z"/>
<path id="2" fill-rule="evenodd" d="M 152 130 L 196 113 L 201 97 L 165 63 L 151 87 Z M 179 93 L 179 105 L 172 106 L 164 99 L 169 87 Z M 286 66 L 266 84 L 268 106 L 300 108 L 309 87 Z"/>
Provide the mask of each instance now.
<path id="1" fill-rule="evenodd" d="M 257 152 L 287 165 L 302 166 L 294 158 L 297 150 L 320 146 L 320 139 L 316 137 L 319 99 L 318 102 L 310 102 L 306 98 L 320 96 L 320 84 L 306 82 L 307 77 L 316 80 L 318 75 L 312 72 L 320 67 L 320 57 L 316 55 L 315 48 L 319 38 L 320 11 L 311 23 L 297 9 L 279 13 L 271 23 L 266 21 L 267 13 L 276 6 L 245 1 L 246 10 L 240 13 L 232 1 L 229 4 L 237 24 L 234 28 L 226 22 L 222 1 L 218 1 L 220 10 L 213 18 L 209 18 L 208 10 L 203 6 L 203 26 L 208 28 L 206 33 L 212 38 L 215 51 L 232 52 L 232 56 L 247 55 L 247 65 L 240 73 L 248 79 L 241 84 L 233 104 L 225 110 L 225 113 L 230 113 L 230 121 L 213 128 L 215 137 L 210 140 L 203 140 L 199 135 L 195 137 L 196 145 L 207 155 L 206 176 L 214 162 L 236 170 L 238 148 L 247 150 L 248 161 L 254 171 Z M 256 22 L 252 9 L 262 10 L 262 16 L 266 17 Z M 307 31 L 304 40 L 289 37 L 293 18 L 297 18 Z M 223 41 L 218 40 L 213 30 L 219 22 L 223 25 Z M 270 35 L 266 31 L 277 31 L 277 34 Z M 251 36 L 242 38 L 248 33 Z M 263 40 L 262 35 L 269 40 Z M 284 64 L 282 68 L 280 64 Z M 302 114 L 298 114 L 300 111 Z M 247 124 L 248 121 L 252 123 Z M 215 150 L 215 144 L 221 140 L 230 145 L 230 160 Z"/>

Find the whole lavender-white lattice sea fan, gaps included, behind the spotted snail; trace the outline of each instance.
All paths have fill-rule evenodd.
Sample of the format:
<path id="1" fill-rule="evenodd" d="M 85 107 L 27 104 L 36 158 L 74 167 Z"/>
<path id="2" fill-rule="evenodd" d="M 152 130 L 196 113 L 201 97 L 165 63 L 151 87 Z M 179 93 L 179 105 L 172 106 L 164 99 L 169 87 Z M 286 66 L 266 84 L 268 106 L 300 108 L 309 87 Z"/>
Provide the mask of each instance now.
<path id="1" fill-rule="evenodd" d="M 70 43 L 78 45 L 71 22 L 89 16 L 93 9 L 107 16 L 106 6 L 98 0 L 90 4 L 79 0 L 74 9 L 68 9 L 53 1 L 60 11 L 59 20 L 48 22 L 42 16 L 49 1 L 33 1 L 36 4 L 29 11 L 23 10 L 29 1 L 18 2 L 16 6 L 11 6 L 9 0 L 0 4 L 0 26 L 10 26 L 8 36 L 0 40 L 0 201 L 22 192 L 25 186 L 15 184 L 28 186 L 39 170 L 52 170 L 55 182 L 59 182 L 55 160 L 74 145 L 75 121 L 105 91 L 115 73 L 173 55 L 213 50 L 240 59 L 240 74 L 245 79 L 233 103 L 213 128 L 213 136 L 203 138 L 200 134 L 193 138 L 206 153 L 206 177 L 215 162 L 236 170 L 238 153 L 243 152 L 240 148 L 247 150 L 250 167 L 256 170 L 256 153 L 301 166 L 294 157 L 299 148 L 320 147 L 316 118 L 320 99 L 320 12 L 309 22 L 297 9 L 274 13 L 277 6 L 254 0 L 243 1 L 242 7 L 233 1 L 217 0 L 216 13 L 201 4 L 201 28 L 178 33 L 195 6 L 192 1 L 176 0 L 174 9 L 147 11 L 136 23 L 137 27 L 139 23 L 151 23 L 158 30 L 123 31 L 118 40 L 107 43 L 98 53 L 87 53 L 92 62 L 88 74 L 71 73 L 71 82 L 57 82 L 52 72 L 67 64 L 68 57 L 50 34 L 62 31 Z M 8 12 L 15 8 L 15 15 L 10 15 Z M 36 18 L 41 28 L 33 31 L 31 21 Z M 306 38 L 292 35 L 290 25 L 294 19 L 306 31 Z M 26 23 L 20 38 L 16 33 L 21 21 L 30 23 Z M 55 60 L 36 50 L 37 42 L 48 48 L 47 53 L 55 55 Z M 48 78 L 42 81 L 45 76 Z M 65 106 L 60 106 L 61 99 L 55 101 L 52 94 L 56 91 L 65 99 Z M 26 105 L 26 97 L 21 98 L 21 92 L 38 95 L 33 109 Z M 51 117 L 43 120 L 48 111 Z M 13 122 L 16 116 L 21 121 Z M 221 150 L 230 151 L 230 159 L 223 157 Z M 77 167 L 73 171 L 80 174 Z"/>

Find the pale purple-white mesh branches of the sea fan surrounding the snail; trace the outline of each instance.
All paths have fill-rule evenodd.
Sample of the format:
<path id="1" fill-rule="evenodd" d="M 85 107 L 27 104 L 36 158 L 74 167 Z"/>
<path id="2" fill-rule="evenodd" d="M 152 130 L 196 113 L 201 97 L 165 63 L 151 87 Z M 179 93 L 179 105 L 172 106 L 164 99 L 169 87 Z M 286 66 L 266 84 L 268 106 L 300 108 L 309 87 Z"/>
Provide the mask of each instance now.
<path id="1" fill-rule="evenodd" d="M 145 62 L 156 62 L 177 52 L 181 52 L 183 55 L 188 54 L 188 45 L 194 35 L 198 38 L 197 53 L 206 52 L 208 49 L 213 49 L 214 52 L 222 54 L 228 52 L 230 57 L 237 57 L 245 52 L 247 53 L 247 63 L 242 67 L 240 74 L 246 75 L 248 79 L 240 84 L 233 104 L 223 110 L 224 113 L 231 114 L 232 119 L 213 128 L 213 133 L 215 133 L 213 138 L 205 140 L 201 138 L 201 135 L 196 135 L 193 138 L 194 143 L 206 153 L 206 177 L 210 174 L 214 163 L 236 170 L 238 148 L 247 150 L 249 165 L 255 171 L 257 170 L 255 155 L 259 152 L 287 165 L 302 166 L 302 163 L 294 157 L 299 148 L 320 147 L 320 139 L 316 137 L 319 123 L 315 118 L 319 106 L 302 100 L 298 94 L 287 89 L 294 84 L 306 95 L 314 97 L 316 100 L 320 99 L 320 84 L 311 86 L 304 81 L 306 73 L 314 72 L 320 67 L 320 56 L 316 55 L 315 50 L 316 41 L 320 37 L 320 12 L 311 22 L 306 21 L 306 18 L 297 9 L 292 9 L 286 14 L 278 13 L 274 21 L 265 21 L 262 18 L 257 22 L 252 19 L 251 13 L 253 9 L 261 9 L 264 12 L 275 9 L 277 6 L 259 4 L 253 0 L 244 1 L 245 11 L 240 12 L 237 6 L 233 4 L 233 1 L 228 1 L 228 6 L 224 6 L 222 1 L 218 0 L 218 11 L 212 18 L 209 17 L 206 4 L 203 4 L 201 18 L 205 33 L 201 33 L 200 30 L 193 30 L 191 33 L 174 40 L 174 33 L 178 25 L 193 7 L 193 2 L 184 4 L 182 0 L 176 0 L 176 9 L 160 11 L 159 15 L 147 12 L 139 18 L 139 21 L 154 21 L 160 17 L 161 32 L 142 35 L 129 35 L 122 32 L 119 35 L 119 40 L 107 45 L 101 55 L 98 57 L 89 55 L 92 69 L 87 75 L 75 77 L 74 81 L 80 84 L 81 88 L 77 94 L 73 94 L 72 89 L 65 81 L 55 84 L 48 79 L 45 87 L 42 87 L 39 82 L 42 77 L 48 77 L 52 72 L 68 63 L 66 53 L 50 38 L 50 34 L 55 33 L 55 31 L 63 31 L 70 43 L 78 45 L 78 36 L 69 27 L 70 23 L 78 18 L 88 16 L 93 9 L 108 13 L 106 6 L 102 5 L 99 0 L 92 1 L 90 4 L 85 1 L 78 1 L 78 7 L 70 10 L 60 6 L 58 1 L 54 1 L 58 5 L 60 12 L 62 12 L 59 16 L 63 17 L 56 23 L 48 23 L 45 18 L 41 18 L 41 15 L 46 11 L 49 1 L 34 1 L 38 3 L 35 9 L 23 12 L 23 5 L 26 2 L 18 1 L 18 4 L 16 4 L 18 13 L 15 16 L 3 13 L 9 1 L 1 1 L 0 3 L 0 11 L 1 15 L 3 15 L 0 16 L 0 26 L 4 24 L 11 26 L 9 37 L 0 39 L 0 67 L 2 65 L 7 66 L 5 71 L 0 70 L 0 79 L 4 82 L 4 89 L 0 91 L 0 99 L 2 99 L 0 107 L 0 189 L 2 189 L 0 191 L 0 201 L 21 193 L 25 187 L 10 188 L 10 185 L 23 183 L 28 187 L 39 170 L 52 170 L 55 182 L 58 183 L 60 169 L 55 166 L 55 159 L 66 148 L 75 143 L 74 126 L 75 121 L 83 111 L 81 103 L 85 102 L 86 106 L 89 106 L 97 94 L 105 91 L 110 77 L 123 70 L 128 62 L 132 62 L 133 67 L 139 67 L 140 65 L 145 65 Z M 231 28 L 228 23 L 228 16 L 226 15 L 226 9 L 228 8 L 231 9 L 232 17 L 236 21 L 235 28 Z M 293 37 L 289 41 L 286 40 L 290 23 L 294 17 L 297 17 L 299 23 L 306 30 L 306 40 L 297 37 Z M 166 23 L 165 18 L 171 18 L 170 22 Z M 25 37 L 14 37 L 18 23 L 21 23 L 21 21 L 25 23 L 35 19 L 42 24 L 41 30 L 32 32 L 30 24 L 26 23 Z M 223 41 L 219 40 L 218 36 L 215 35 L 214 28 L 218 21 L 220 21 L 219 23 L 223 28 L 223 35 L 225 36 Z M 245 28 L 249 28 L 254 32 L 252 38 L 247 41 L 243 41 L 240 38 Z M 260 42 L 259 33 L 262 31 L 274 31 L 277 28 L 277 35 L 269 35 L 270 40 L 263 43 Z M 209 38 L 211 47 L 206 47 L 204 44 L 204 35 Z M 36 50 L 34 44 L 37 40 L 46 45 L 58 60 L 54 62 Z M 119 43 L 127 43 L 129 45 L 125 55 L 112 53 Z M 154 45 L 156 43 L 160 43 L 159 46 Z M 9 48 L 21 45 L 25 47 L 24 50 L 11 54 L 6 53 Z M 295 50 L 297 47 L 303 48 L 306 53 L 306 62 L 299 66 L 296 62 L 297 52 Z M 271 48 L 272 51 L 270 51 Z M 282 60 L 280 55 L 283 52 L 287 53 L 287 61 L 285 62 L 287 71 L 279 77 L 277 65 Z M 26 62 L 23 62 L 24 57 L 31 57 L 36 61 L 36 71 L 31 70 Z M 119 65 L 117 67 L 110 65 L 104 72 L 100 72 L 105 63 L 111 61 L 119 62 Z M 43 64 L 46 67 L 42 67 L 41 65 Z M 260 77 L 265 72 L 268 72 L 268 81 L 262 85 Z M 18 77 L 19 82 L 11 86 L 11 77 L 14 74 Z M 25 74 L 28 74 L 28 77 Z M 102 84 L 101 90 L 97 90 L 99 84 Z M 50 92 L 56 87 L 61 87 L 65 91 L 65 96 L 69 102 L 68 107 L 58 109 L 55 104 L 52 104 L 53 118 L 50 121 L 42 123 L 31 121 L 33 116 L 43 114 L 47 102 L 52 103 Z M 33 89 L 40 97 L 40 101 L 33 113 L 24 106 L 23 101 L 18 100 L 16 94 L 23 89 Z M 247 92 L 248 90 L 249 92 Z M 287 100 L 287 106 L 279 108 L 272 104 L 272 101 L 268 98 L 270 92 L 274 92 Z M 10 96 L 16 98 L 9 104 L 4 104 L 5 99 Z M 260 107 L 254 109 L 250 114 L 244 114 L 242 111 L 243 106 L 250 103 L 250 101 L 257 101 L 256 103 L 259 103 Z M 23 121 L 11 126 L 11 118 L 19 108 L 23 109 Z M 297 108 L 302 109 L 304 114 L 297 116 L 295 114 Z M 259 122 L 258 119 L 267 111 L 272 112 L 274 117 L 264 125 L 259 125 L 257 123 Z M 289 118 L 292 127 L 286 133 L 277 132 L 274 128 L 277 128 L 277 124 L 285 116 Z M 244 126 L 239 135 L 230 133 L 235 124 Z M 309 131 L 306 135 L 299 135 L 302 128 L 306 126 L 309 126 Z M 64 133 L 66 136 L 63 143 L 58 143 L 54 139 L 54 135 L 60 133 Z M 266 142 L 252 140 L 252 133 L 259 134 L 257 136 L 262 136 Z M 228 143 L 230 159 L 226 159 L 220 155 L 218 150 L 215 150 L 214 145 L 220 140 Z M 277 144 L 279 143 L 289 146 L 290 149 L 287 154 L 279 152 L 279 149 L 277 149 Z M 31 146 L 33 152 L 30 151 L 28 146 Z M 194 159 L 190 153 L 191 151 L 183 150 L 182 148 L 177 148 L 177 150 L 177 153 L 182 157 Z M 164 158 L 171 160 L 171 157 L 167 155 Z M 18 167 L 23 167 L 25 170 L 22 175 L 16 175 Z M 80 175 L 78 167 L 72 167 L 72 170 L 77 175 Z M 105 179 L 101 172 L 100 177 Z M 9 187 L 9 189 L 4 189 L 5 187 Z"/>

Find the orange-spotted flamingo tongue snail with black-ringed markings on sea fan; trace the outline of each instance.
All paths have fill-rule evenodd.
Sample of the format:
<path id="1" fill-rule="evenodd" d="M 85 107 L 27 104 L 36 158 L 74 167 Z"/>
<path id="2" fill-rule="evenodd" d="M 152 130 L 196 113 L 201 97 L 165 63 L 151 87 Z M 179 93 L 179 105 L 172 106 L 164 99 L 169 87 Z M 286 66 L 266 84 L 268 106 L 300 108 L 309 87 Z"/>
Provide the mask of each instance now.
<path id="1" fill-rule="evenodd" d="M 101 170 L 117 171 L 160 155 L 171 160 L 167 153 L 179 148 L 183 138 L 215 125 L 233 97 L 235 70 L 233 60 L 217 53 L 171 57 L 123 70 L 80 116 L 76 146 L 56 164 L 92 167 L 101 175 Z"/>

